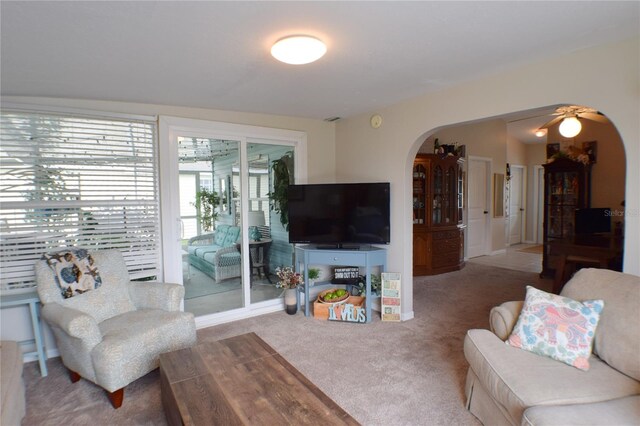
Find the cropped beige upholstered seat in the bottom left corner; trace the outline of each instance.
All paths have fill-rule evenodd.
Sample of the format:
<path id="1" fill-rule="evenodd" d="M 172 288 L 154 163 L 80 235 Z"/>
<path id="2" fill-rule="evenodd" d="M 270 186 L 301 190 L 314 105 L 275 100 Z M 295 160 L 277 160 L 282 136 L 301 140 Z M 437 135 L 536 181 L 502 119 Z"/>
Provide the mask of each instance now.
<path id="1" fill-rule="evenodd" d="M 19 425 L 26 413 L 22 350 L 13 341 L 0 342 L 0 425 Z"/>

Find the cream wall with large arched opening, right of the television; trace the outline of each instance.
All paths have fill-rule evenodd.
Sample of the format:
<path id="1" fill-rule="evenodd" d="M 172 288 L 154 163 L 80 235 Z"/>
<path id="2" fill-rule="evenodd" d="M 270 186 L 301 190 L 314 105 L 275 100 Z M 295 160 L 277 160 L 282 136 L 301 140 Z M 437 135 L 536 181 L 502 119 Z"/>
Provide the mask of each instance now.
<path id="1" fill-rule="evenodd" d="M 388 269 L 401 272 L 402 314 L 413 316 L 411 165 L 426 136 L 467 124 L 557 104 L 589 105 L 616 125 L 627 164 L 640 164 L 639 39 L 585 49 L 499 75 L 418 96 L 341 120 L 336 126 L 336 176 L 391 182 L 392 231 Z M 571 84 L 567 84 L 570 82 Z M 369 117 L 383 117 L 372 129 Z M 506 160 L 503 157 L 502 162 Z M 494 164 L 499 166 L 500 161 Z M 640 235 L 640 167 L 627 168 L 627 235 Z M 640 241 L 625 239 L 625 270 L 640 274 Z"/>

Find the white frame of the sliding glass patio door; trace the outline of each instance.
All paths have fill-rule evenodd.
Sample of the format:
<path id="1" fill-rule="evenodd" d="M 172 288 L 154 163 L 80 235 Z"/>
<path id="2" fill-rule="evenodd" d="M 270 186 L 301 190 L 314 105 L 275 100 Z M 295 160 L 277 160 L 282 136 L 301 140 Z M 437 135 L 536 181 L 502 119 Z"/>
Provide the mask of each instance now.
<path id="1" fill-rule="evenodd" d="M 182 282 L 182 255 L 180 246 L 179 162 L 178 137 L 199 137 L 238 141 L 240 156 L 240 209 L 241 222 L 248 223 L 249 167 L 247 144 L 260 143 L 290 146 L 294 150 L 294 179 L 306 183 L 307 135 L 295 130 L 274 129 L 216 121 L 160 116 L 159 172 L 160 172 L 160 223 L 162 231 L 162 269 L 164 281 Z M 242 247 L 249 247 L 248 232 L 242 233 Z M 205 327 L 236 319 L 248 318 L 284 309 L 282 299 L 250 303 L 249 250 L 242 250 L 242 307 L 196 318 L 196 326 Z"/>

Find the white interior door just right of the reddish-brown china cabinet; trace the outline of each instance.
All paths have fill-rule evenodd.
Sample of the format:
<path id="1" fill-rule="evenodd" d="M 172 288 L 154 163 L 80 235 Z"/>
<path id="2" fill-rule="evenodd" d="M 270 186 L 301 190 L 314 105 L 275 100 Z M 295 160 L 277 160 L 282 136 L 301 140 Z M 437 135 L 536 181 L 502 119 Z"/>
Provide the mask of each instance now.
<path id="1" fill-rule="evenodd" d="M 469 158 L 467 257 L 489 254 L 491 160 Z"/>

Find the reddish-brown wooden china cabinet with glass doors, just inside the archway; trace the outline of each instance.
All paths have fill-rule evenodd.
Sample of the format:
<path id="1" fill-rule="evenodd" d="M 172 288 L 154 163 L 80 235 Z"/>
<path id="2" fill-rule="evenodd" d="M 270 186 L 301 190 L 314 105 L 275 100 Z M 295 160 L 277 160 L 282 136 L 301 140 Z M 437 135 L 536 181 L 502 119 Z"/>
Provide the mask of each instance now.
<path id="1" fill-rule="evenodd" d="M 460 157 L 418 154 L 413 164 L 413 275 L 464 266 Z"/>

